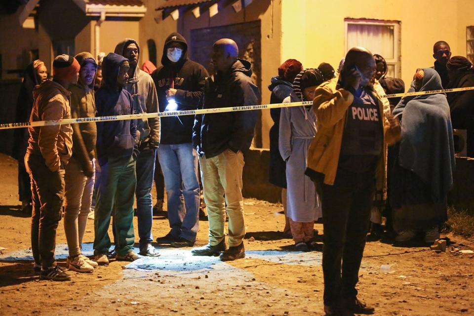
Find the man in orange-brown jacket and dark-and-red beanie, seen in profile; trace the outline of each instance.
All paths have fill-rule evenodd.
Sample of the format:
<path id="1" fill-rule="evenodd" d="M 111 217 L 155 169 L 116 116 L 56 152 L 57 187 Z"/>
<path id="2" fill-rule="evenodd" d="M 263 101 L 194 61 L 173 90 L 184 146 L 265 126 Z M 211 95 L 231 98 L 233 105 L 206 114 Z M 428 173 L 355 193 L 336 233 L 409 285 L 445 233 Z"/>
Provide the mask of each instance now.
<path id="1" fill-rule="evenodd" d="M 59 55 L 53 62 L 53 80 L 46 80 L 33 91 L 35 103 L 30 121 L 71 118 L 71 84 L 79 78 L 79 63 L 69 55 Z M 32 183 L 33 212 L 31 248 L 34 269 L 41 279 L 70 280 L 54 258 L 56 229 L 61 219 L 64 199 L 64 174 L 72 154 L 70 124 L 29 127 L 30 139 L 25 164 Z"/>

